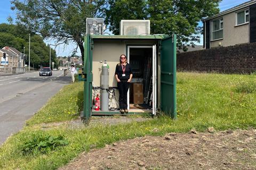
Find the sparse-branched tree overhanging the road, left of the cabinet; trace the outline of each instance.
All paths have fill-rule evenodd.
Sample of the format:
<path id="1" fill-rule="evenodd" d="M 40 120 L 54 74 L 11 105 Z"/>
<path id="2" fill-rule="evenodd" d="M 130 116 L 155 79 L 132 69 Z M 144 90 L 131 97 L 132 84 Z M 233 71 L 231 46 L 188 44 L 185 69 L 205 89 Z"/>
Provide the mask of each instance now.
<path id="1" fill-rule="evenodd" d="M 98 17 L 105 0 L 12 0 L 17 21 L 57 44 L 75 41 L 84 58 L 86 18 Z"/>

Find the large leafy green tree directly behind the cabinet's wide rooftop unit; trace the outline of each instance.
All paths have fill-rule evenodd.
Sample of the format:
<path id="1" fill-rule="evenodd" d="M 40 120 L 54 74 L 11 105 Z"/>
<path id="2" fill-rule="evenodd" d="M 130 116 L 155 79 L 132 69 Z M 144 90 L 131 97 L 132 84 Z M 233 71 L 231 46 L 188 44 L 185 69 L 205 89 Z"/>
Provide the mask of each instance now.
<path id="1" fill-rule="evenodd" d="M 110 31 L 119 33 L 122 19 L 150 20 L 150 33 L 178 36 L 178 46 L 200 41 L 198 22 L 219 12 L 221 0 L 109 0 L 106 22 Z"/>

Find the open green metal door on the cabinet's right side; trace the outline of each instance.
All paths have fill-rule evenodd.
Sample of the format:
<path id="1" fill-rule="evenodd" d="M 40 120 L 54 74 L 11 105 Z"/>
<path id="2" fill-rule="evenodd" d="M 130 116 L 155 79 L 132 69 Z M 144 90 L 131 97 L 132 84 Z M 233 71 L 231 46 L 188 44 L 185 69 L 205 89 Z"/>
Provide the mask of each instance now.
<path id="1" fill-rule="evenodd" d="M 161 40 L 161 110 L 177 118 L 176 35 Z"/>

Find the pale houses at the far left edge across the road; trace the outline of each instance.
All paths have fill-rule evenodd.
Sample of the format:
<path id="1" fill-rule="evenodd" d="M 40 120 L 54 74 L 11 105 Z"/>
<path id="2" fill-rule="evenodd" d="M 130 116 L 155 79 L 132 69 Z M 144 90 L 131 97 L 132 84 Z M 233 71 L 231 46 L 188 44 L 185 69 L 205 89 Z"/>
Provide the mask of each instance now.
<path id="1" fill-rule="evenodd" d="M 0 57 L 2 58 L 3 53 L 6 53 L 6 67 L 23 67 L 23 58 L 21 58 L 21 52 L 13 47 L 5 46 L 0 49 Z M 3 66 L 3 64 L 1 65 Z"/>

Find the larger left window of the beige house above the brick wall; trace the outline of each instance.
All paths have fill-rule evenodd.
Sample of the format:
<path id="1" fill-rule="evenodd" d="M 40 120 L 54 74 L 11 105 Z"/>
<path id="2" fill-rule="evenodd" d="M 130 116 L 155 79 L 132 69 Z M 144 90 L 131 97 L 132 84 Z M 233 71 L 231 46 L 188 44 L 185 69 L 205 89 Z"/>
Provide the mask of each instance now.
<path id="1" fill-rule="evenodd" d="M 223 38 L 223 18 L 212 21 L 212 40 Z"/>

